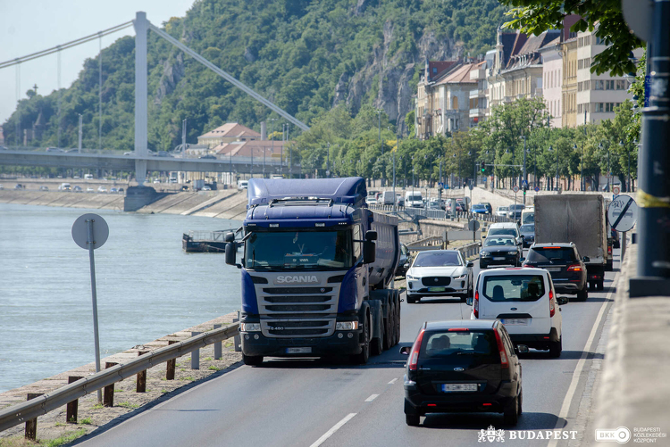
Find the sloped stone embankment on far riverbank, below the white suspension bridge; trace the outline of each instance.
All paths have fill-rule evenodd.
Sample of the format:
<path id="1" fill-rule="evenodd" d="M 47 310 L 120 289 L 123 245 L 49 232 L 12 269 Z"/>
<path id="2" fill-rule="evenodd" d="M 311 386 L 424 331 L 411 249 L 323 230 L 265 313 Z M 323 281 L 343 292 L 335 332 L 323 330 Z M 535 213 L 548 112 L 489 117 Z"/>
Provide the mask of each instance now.
<path id="1" fill-rule="evenodd" d="M 159 193 L 159 199 L 138 210 L 144 213 L 165 212 L 218 219 L 244 219 L 247 191 L 220 190 Z M 0 203 L 87 208 L 92 210 L 123 210 L 123 195 L 91 194 L 39 190 L 0 190 Z"/>

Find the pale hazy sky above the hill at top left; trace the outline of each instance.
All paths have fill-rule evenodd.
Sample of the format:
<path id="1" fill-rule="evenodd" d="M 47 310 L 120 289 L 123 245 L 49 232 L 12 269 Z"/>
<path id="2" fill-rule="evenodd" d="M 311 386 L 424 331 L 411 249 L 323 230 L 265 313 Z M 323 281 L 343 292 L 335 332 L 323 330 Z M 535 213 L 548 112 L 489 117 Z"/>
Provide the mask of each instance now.
<path id="1" fill-rule="evenodd" d="M 0 62 L 36 53 L 71 40 L 96 34 L 135 18 L 138 11 L 156 26 L 171 17 L 183 17 L 194 0 L 0 0 Z M 102 38 L 103 48 L 123 36 L 134 36 L 132 27 Z M 63 50 L 61 87 L 70 87 L 86 59 L 96 57 L 99 39 Z M 21 63 L 21 98 L 35 84 L 39 95 L 58 87 L 57 54 Z M 16 109 L 16 66 L 0 69 L 0 126 Z"/>

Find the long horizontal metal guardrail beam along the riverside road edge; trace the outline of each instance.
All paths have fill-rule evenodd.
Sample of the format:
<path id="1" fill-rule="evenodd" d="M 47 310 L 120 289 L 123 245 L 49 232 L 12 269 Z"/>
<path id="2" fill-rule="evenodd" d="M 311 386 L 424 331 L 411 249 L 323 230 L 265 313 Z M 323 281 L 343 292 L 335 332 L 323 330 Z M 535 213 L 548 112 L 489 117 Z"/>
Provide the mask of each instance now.
<path id="1" fill-rule="evenodd" d="M 139 372 L 155 367 L 164 361 L 176 359 L 208 344 L 226 340 L 237 335 L 238 328 L 239 323 L 232 323 L 230 326 L 190 337 L 182 342 L 147 352 L 128 363 L 106 368 L 92 376 L 81 378 L 70 385 L 58 388 L 52 393 L 0 410 L 0 432 L 18 426 L 32 418 L 45 415 L 49 411 L 63 407 L 68 402 L 79 399 L 88 393 L 96 392 L 105 388 L 105 386 L 120 382 L 124 378 L 135 376 Z"/>

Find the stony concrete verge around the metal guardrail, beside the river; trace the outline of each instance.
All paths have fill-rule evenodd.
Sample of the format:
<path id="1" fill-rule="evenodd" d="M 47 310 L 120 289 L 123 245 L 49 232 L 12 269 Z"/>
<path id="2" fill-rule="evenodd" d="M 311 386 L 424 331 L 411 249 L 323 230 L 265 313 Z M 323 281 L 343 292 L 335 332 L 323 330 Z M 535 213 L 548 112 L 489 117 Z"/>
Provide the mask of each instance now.
<path id="1" fill-rule="evenodd" d="M 101 364 L 105 368 L 105 362 L 126 363 L 138 357 L 140 351 L 153 351 L 162 348 L 170 342 L 180 342 L 191 336 L 191 332 L 205 332 L 212 330 L 215 324 L 226 326 L 237 316 L 237 312 L 212 319 L 201 325 L 189 327 L 153 342 L 140 344 L 127 351 L 113 354 L 102 359 Z M 241 365 L 241 353 L 235 352 L 233 340 L 224 341 L 222 358 L 214 359 L 214 345 L 200 350 L 199 369 L 191 369 L 191 355 L 186 354 L 176 361 L 175 375 L 173 380 L 166 380 L 166 364 L 160 363 L 154 368 L 147 370 L 147 391 L 136 393 L 135 377 L 127 378 L 114 385 L 113 407 L 103 407 L 97 404 L 95 392 L 80 398 L 78 423 L 66 423 L 65 406 L 54 410 L 38 418 L 38 440 L 46 442 L 53 441 L 68 435 L 86 435 L 97 429 L 104 430 L 110 426 L 120 424 L 123 420 L 130 418 L 139 411 L 147 410 L 155 404 L 169 399 L 175 394 L 182 393 L 202 381 L 206 377 L 221 375 Z M 48 377 L 34 384 L 21 386 L 5 393 L 0 393 L 0 409 L 26 401 L 28 393 L 50 393 L 68 384 L 68 377 L 86 377 L 94 374 L 96 367 L 94 363 L 74 368 L 70 371 Z M 13 426 L 0 432 L 0 446 L 24 445 L 22 443 L 24 426 Z M 57 444 L 60 445 L 60 444 Z"/>

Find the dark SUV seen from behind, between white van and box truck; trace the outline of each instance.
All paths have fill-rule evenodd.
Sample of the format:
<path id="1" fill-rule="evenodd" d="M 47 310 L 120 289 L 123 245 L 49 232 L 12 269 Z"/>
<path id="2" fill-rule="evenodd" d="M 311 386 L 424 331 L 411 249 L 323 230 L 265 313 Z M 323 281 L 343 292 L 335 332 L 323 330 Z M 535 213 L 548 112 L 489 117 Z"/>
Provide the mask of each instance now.
<path id="1" fill-rule="evenodd" d="M 577 294 L 578 300 L 586 301 L 589 291 L 584 262 L 588 261 L 586 256 L 580 258 L 573 243 L 532 244 L 523 267 L 546 269 L 557 294 Z"/>

